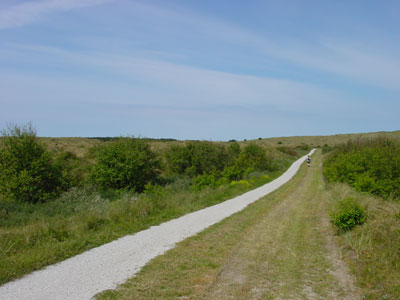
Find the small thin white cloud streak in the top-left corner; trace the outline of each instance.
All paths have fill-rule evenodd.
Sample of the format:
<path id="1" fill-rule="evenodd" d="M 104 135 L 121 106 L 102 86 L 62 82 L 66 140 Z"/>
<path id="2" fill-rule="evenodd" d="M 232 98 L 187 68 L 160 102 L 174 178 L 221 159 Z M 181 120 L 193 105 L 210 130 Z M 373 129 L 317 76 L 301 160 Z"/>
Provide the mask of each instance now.
<path id="1" fill-rule="evenodd" d="M 26 1 L 0 10 L 0 29 L 20 27 L 61 11 L 98 5 L 108 0 L 39 0 Z"/>

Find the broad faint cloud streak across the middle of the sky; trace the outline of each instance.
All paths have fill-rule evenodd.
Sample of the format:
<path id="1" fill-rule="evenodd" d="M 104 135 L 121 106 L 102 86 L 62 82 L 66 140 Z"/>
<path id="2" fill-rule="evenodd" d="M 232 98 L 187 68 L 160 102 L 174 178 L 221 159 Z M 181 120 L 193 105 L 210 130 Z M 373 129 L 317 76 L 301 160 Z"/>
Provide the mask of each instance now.
<path id="1" fill-rule="evenodd" d="M 81 71 L 91 70 L 89 73 L 107 78 L 123 78 L 131 88 L 125 91 L 124 96 L 114 97 L 113 101 L 118 98 L 120 102 L 127 104 L 168 103 L 183 107 L 269 105 L 278 109 L 310 112 L 318 107 L 337 103 L 339 98 L 337 92 L 309 83 L 203 69 L 143 58 L 135 53 L 126 56 L 101 52 L 88 55 L 37 45 L 13 45 L 13 49 L 16 55 L 19 51 L 29 52 L 31 55 L 36 53 L 35 61 L 38 64 L 52 61 L 56 68 L 79 66 Z M 23 55 L 19 57 L 21 56 Z M 38 77 L 39 74 L 35 76 Z M 43 85 L 46 80 L 48 79 L 44 79 Z M 79 83 L 75 84 L 78 85 L 75 90 L 79 90 Z M 103 83 L 98 84 L 101 85 Z M 87 86 L 87 89 L 98 88 Z M 106 94 L 112 98 L 110 93 Z"/>

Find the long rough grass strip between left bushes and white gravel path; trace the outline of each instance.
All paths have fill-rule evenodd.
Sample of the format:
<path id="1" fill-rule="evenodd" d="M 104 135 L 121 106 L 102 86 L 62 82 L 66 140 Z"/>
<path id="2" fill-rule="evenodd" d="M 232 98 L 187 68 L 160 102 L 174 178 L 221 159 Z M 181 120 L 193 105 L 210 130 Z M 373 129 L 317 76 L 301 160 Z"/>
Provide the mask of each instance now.
<path id="1" fill-rule="evenodd" d="M 0 201 L 0 284 L 251 190 L 278 177 L 294 160 L 281 162 L 278 171 L 201 191 L 178 181 L 142 195 L 123 193 L 113 201 L 82 188 L 40 205 Z"/>

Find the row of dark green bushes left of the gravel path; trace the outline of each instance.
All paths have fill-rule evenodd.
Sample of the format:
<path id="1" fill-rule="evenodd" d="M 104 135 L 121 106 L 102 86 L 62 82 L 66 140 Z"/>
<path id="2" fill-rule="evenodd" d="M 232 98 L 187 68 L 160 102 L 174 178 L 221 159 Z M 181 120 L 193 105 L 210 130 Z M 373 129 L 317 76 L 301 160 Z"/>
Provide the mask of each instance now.
<path id="1" fill-rule="evenodd" d="M 113 138 L 92 147 L 85 157 L 57 147 L 52 151 L 38 142 L 30 125 L 3 132 L 1 201 L 46 202 L 70 187 L 85 185 L 109 195 L 123 189 L 141 193 L 148 183 L 166 184 L 178 177 L 190 178 L 201 189 L 277 167 L 265 148 L 255 143 L 241 148 L 237 142 L 192 141 L 156 154 L 144 139 Z"/>

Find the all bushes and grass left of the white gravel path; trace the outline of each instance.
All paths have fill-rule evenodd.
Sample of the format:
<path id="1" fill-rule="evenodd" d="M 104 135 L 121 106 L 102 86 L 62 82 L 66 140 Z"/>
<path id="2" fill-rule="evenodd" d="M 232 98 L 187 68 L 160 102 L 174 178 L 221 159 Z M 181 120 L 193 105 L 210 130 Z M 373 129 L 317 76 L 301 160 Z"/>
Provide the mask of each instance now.
<path id="1" fill-rule="evenodd" d="M 39 139 L 30 126 L 3 135 L 0 284 L 230 199 L 296 159 L 253 142 L 87 141 Z"/>

